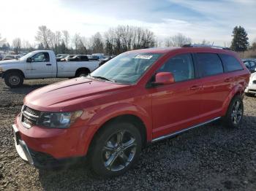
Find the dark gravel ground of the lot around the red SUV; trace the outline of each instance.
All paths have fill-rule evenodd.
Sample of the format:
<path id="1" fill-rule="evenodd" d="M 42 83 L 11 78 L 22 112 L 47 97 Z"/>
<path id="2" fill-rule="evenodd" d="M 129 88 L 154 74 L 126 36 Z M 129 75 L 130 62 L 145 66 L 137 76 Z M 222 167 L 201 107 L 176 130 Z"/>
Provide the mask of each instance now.
<path id="1" fill-rule="evenodd" d="M 256 98 L 244 98 L 241 128 L 205 125 L 151 144 L 124 176 L 91 178 L 86 163 L 39 171 L 15 151 L 10 126 L 24 96 L 60 79 L 25 81 L 10 89 L 0 79 L 0 190 L 256 190 Z"/>

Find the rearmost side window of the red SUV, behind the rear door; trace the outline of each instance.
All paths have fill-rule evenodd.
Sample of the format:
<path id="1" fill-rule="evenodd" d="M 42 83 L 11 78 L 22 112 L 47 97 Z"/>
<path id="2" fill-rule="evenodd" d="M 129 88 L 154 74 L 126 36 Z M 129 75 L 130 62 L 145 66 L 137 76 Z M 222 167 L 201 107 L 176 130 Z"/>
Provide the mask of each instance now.
<path id="1" fill-rule="evenodd" d="M 241 63 L 238 62 L 238 60 L 231 56 L 231 55 L 219 55 L 220 58 L 222 58 L 222 62 L 225 65 L 225 71 L 237 71 L 242 70 L 243 67 L 241 66 Z"/>

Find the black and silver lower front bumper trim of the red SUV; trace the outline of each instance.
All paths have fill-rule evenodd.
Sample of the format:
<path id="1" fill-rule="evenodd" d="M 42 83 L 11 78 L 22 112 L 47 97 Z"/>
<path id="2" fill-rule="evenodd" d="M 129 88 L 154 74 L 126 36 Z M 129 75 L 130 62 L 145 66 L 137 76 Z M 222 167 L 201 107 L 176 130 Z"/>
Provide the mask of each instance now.
<path id="1" fill-rule="evenodd" d="M 78 163 L 80 160 L 85 160 L 85 157 L 69 157 L 64 159 L 56 159 L 51 155 L 43 152 L 37 152 L 29 148 L 25 141 L 20 138 L 20 132 L 16 125 L 12 125 L 13 138 L 15 139 L 15 148 L 18 155 L 23 160 L 26 160 L 30 165 L 35 168 L 45 169 L 45 168 L 62 168 Z"/>

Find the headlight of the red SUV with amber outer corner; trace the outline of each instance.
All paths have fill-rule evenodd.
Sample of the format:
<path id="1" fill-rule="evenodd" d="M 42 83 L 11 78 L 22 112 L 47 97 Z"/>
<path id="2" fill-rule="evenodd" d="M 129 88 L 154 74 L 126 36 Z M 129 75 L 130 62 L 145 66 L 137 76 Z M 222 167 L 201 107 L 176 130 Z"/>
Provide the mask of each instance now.
<path id="1" fill-rule="evenodd" d="M 69 128 L 82 114 L 83 111 L 59 113 L 41 112 L 37 125 L 46 128 Z"/>

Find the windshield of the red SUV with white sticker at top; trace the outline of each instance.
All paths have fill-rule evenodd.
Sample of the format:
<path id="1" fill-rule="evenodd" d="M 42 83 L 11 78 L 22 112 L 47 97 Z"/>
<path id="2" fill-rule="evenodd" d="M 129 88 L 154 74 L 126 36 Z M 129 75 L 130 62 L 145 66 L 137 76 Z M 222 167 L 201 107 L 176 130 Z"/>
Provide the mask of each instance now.
<path id="1" fill-rule="evenodd" d="M 91 73 L 91 77 L 132 85 L 162 54 L 124 52 Z"/>

